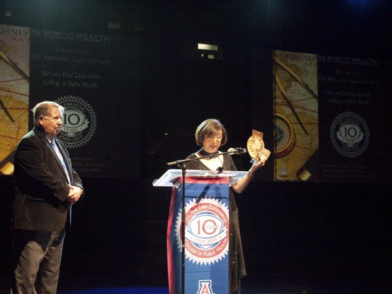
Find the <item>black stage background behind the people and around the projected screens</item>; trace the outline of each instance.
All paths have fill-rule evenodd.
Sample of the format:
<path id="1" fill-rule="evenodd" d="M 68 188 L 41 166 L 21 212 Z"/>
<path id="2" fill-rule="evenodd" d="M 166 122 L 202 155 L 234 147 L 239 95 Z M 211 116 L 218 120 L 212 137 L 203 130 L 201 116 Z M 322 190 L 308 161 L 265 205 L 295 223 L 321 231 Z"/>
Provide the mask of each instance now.
<path id="1" fill-rule="evenodd" d="M 255 77 L 266 73 L 255 74 L 252 62 L 263 59 L 259 52 L 264 50 L 287 50 L 382 61 L 381 97 L 369 117 L 374 120 L 374 157 L 378 157 L 376 164 L 373 159 L 370 164 L 378 180 L 273 182 L 267 174 L 273 162 L 268 161 L 236 197 L 248 269 L 243 283 L 256 278 L 390 293 L 391 57 L 386 44 L 391 39 L 387 23 L 392 13 L 388 1 L 6 0 L 0 8 L 0 23 L 6 25 L 99 32 L 125 43 L 127 38 L 140 40 L 139 88 L 127 91 L 126 80 L 121 79 L 121 89 L 99 93 L 112 101 L 106 105 L 110 136 L 104 141 L 105 150 L 121 134 L 126 134 L 126 140 L 135 138 L 124 155 L 124 162 L 135 157 L 135 165 L 131 162 L 126 169 L 127 164 L 116 160 L 110 166 L 115 177 L 83 178 L 86 198 L 73 209 L 61 283 L 69 286 L 86 280 L 110 286 L 110 281 L 120 279 L 130 286 L 167 286 L 171 191 L 153 187 L 153 180 L 168 169 L 166 162 L 197 150 L 195 128 L 206 118 L 220 119 L 226 126 L 230 137 L 224 148 L 245 147 L 253 128 L 265 132 L 264 126 L 271 124 L 264 120 L 273 111 L 271 94 L 266 101 L 259 99 L 266 87 L 255 86 Z M 10 17 L 6 11 L 12 12 Z M 108 23 L 121 26 L 108 28 Z M 197 43 L 217 44 L 222 59 L 200 58 Z M 136 104 L 121 99 L 135 92 Z M 30 89 L 30 93 L 39 98 L 39 92 Z M 99 109 L 101 115 L 105 110 Z M 265 141 L 272 145 L 271 133 Z M 71 148 L 71 156 L 72 152 Z M 94 156 L 108 158 L 106 152 Z M 250 166 L 248 155 L 234 159 L 239 170 Z M 137 175 L 129 178 L 130 170 Z M 0 195 L 0 287 L 5 290 L 10 276 L 12 177 L 0 177 Z"/>

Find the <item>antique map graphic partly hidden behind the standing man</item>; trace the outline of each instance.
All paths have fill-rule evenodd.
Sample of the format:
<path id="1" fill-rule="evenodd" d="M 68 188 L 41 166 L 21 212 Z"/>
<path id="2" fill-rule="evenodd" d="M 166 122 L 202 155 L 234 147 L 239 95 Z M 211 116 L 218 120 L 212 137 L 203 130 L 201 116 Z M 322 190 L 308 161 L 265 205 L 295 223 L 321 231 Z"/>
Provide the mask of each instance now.
<path id="1" fill-rule="evenodd" d="M 13 155 L 28 133 L 30 28 L 0 25 L 0 175 L 12 175 Z"/>

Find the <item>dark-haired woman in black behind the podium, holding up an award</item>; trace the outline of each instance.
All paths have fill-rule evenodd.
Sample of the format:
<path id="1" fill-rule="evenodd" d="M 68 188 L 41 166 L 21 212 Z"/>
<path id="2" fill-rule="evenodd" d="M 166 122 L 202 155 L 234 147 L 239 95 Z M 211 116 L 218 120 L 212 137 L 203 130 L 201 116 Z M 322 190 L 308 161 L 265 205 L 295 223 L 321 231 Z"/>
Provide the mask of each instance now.
<path id="1" fill-rule="evenodd" d="M 224 146 L 227 141 L 227 133 L 224 126 L 217 119 L 206 119 L 197 127 L 195 133 L 197 146 L 202 148 L 196 153 L 188 156 L 187 159 L 195 159 L 197 157 L 206 157 L 208 155 L 219 154 L 219 147 Z M 239 220 L 237 204 L 233 191 L 235 193 L 242 193 L 246 186 L 251 182 L 253 175 L 258 168 L 264 166 L 266 157 L 260 155 L 260 161 L 255 162 L 248 175 L 239 179 L 233 184 L 229 190 L 229 222 L 230 222 L 230 243 L 229 243 L 229 293 L 241 291 L 241 278 L 246 275 L 246 268 L 244 262 L 244 255 L 242 252 L 241 235 L 239 232 Z M 206 157 L 200 160 L 189 161 L 186 164 L 186 169 L 190 170 L 237 170 L 233 158 L 228 153 L 218 155 L 215 157 Z"/>

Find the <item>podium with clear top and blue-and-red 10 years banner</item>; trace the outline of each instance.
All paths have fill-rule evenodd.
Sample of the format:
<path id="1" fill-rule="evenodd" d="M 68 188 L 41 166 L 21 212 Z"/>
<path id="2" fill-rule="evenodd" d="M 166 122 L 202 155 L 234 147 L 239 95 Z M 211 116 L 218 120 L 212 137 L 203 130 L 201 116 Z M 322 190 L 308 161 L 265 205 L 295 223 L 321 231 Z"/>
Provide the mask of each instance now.
<path id="1" fill-rule="evenodd" d="M 228 294 L 229 186 L 247 173 L 186 170 L 183 185 L 182 170 L 172 169 L 153 183 L 153 186 L 173 187 L 167 229 L 170 294 L 182 293 L 182 286 L 185 293 Z M 183 247 L 181 234 L 184 187 Z M 182 248 L 185 248 L 185 258 Z M 185 268 L 184 279 L 182 266 Z"/>

